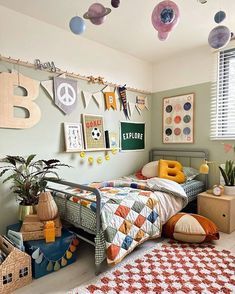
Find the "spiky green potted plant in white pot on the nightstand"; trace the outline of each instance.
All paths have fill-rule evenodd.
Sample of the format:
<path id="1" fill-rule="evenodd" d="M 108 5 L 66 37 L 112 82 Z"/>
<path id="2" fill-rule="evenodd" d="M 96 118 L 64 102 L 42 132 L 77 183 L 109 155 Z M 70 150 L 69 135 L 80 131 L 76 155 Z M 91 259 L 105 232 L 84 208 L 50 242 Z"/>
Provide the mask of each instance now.
<path id="1" fill-rule="evenodd" d="M 235 165 L 233 160 L 226 160 L 225 168 L 219 166 L 220 172 L 224 178 L 224 193 L 226 195 L 235 195 Z"/>

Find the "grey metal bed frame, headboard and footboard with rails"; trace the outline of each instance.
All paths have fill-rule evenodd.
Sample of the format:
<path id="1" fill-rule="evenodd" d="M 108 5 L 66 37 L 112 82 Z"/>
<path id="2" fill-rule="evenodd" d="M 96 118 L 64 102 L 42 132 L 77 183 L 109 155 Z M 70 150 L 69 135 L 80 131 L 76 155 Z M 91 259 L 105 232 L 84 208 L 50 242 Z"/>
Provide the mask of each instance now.
<path id="1" fill-rule="evenodd" d="M 204 149 L 190 149 L 190 150 L 183 150 L 183 149 L 167 149 L 167 148 L 154 148 L 150 151 L 150 156 L 149 156 L 149 161 L 154 161 L 158 159 L 168 159 L 168 160 L 178 160 L 180 161 L 183 165 L 191 166 L 194 168 L 199 168 L 200 164 L 202 163 L 203 159 L 208 159 L 208 151 Z M 208 180 L 207 176 L 204 176 L 201 180 L 204 181 L 205 187 L 208 186 Z M 96 196 L 96 201 L 92 201 L 90 199 L 86 199 L 85 197 L 80 197 L 76 196 L 81 200 L 88 200 L 90 202 L 95 202 L 96 203 L 96 230 L 92 231 L 87 227 L 84 227 L 81 222 L 81 209 L 78 209 L 78 219 L 80 220 L 80 225 L 76 224 L 76 227 L 74 228 L 74 232 L 80 238 L 81 240 L 84 240 L 85 242 L 88 242 L 89 244 L 93 245 L 95 249 L 97 249 L 97 244 L 95 242 L 95 238 L 100 235 L 101 232 L 101 223 L 100 223 L 100 206 L 101 206 L 101 195 L 100 191 L 96 188 L 90 187 L 90 186 L 85 186 L 85 185 L 80 185 L 76 183 L 71 183 L 67 181 L 53 181 L 50 180 L 48 182 L 54 182 L 58 183 L 59 185 L 62 186 L 69 186 L 72 188 L 79 188 L 81 190 L 86 190 L 93 192 Z M 63 193 L 66 195 L 66 197 L 72 196 L 71 193 L 68 193 L 62 189 L 57 189 L 57 188 L 50 188 L 48 187 L 49 190 L 51 190 L 53 193 L 59 192 Z M 190 209 L 190 208 L 189 208 Z M 80 230 L 81 229 L 81 230 Z M 82 231 L 83 233 L 81 233 Z M 87 234 L 88 233 L 88 234 Z M 93 236 L 93 238 L 91 238 Z M 95 262 L 95 273 L 99 274 L 101 272 L 101 263 L 96 263 Z"/>

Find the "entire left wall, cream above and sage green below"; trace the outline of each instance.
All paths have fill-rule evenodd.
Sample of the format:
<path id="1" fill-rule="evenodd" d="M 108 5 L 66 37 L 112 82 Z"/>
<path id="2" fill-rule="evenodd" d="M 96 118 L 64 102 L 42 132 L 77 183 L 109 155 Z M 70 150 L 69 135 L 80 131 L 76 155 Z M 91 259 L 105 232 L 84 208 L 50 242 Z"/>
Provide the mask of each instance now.
<path id="1" fill-rule="evenodd" d="M 0 6 L 0 54 L 34 62 L 54 61 L 56 66 L 84 75 L 103 76 L 106 80 L 128 86 L 151 90 L 152 66 L 127 54 L 111 48 L 74 36 L 57 27 L 42 23 L 28 16 L 13 12 Z M 0 72 L 10 69 L 19 70 L 22 74 L 35 80 L 48 80 L 52 75 L 24 68 L 0 61 Z M 90 85 L 85 81 L 78 81 L 80 90 L 96 92 L 100 85 Z M 1 89 L 0 89 L 1 90 Z M 128 93 L 128 99 L 134 102 L 137 93 Z M 104 158 L 104 152 L 87 154 L 81 160 L 79 154 L 64 152 L 63 122 L 79 122 L 81 113 L 101 114 L 104 116 L 105 129 L 118 132 L 119 121 L 125 120 L 123 112 L 105 111 L 104 105 L 98 109 L 92 101 L 88 109 L 84 109 L 79 93 L 76 110 L 65 116 L 55 105 L 45 91 L 40 88 L 36 99 L 42 117 L 41 121 L 30 129 L 1 129 L 0 128 L 0 157 L 6 154 L 22 155 L 37 154 L 37 158 L 58 158 L 74 168 L 61 169 L 60 175 L 78 183 L 107 180 L 130 174 L 140 168 L 148 160 L 148 151 L 151 141 L 151 115 L 144 111 L 140 116 L 137 111 L 133 121 L 145 121 L 147 128 L 147 146 L 142 152 L 127 152 L 111 155 L 110 161 L 89 166 L 88 156 L 96 159 Z M 149 97 L 151 108 L 151 97 Z M 119 103 L 118 103 L 119 106 Z M 0 180 L 0 233 L 4 233 L 7 224 L 17 220 L 17 205 L 7 184 Z"/>

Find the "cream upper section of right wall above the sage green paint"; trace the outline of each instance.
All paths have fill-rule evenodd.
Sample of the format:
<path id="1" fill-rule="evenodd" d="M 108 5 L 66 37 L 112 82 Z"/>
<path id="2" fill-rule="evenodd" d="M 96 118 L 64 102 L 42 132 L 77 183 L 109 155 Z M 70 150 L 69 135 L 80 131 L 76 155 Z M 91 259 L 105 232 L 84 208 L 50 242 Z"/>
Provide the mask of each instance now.
<path id="1" fill-rule="evenodd" d="M 210 82 L 214 77 L 214 58 L 210 47 L 205 46 L 154 64 L 153 93 Z"/>

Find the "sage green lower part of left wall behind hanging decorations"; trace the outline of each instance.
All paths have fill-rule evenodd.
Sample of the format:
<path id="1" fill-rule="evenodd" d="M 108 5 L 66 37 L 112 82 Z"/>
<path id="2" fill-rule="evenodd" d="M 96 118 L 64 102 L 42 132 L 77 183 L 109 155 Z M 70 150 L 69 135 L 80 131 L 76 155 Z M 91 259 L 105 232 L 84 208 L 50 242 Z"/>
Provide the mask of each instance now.
<path id="1" fill-rule="evenodd" d="M 15 69 L 17 66 L 0 62 L 0 72 Z M 43 81 L 49 79 L 49 74 L 42 71 L 35 71 L 20 66 L 20 73 L 35 80 Z M 52 76 L 52 75 L 51 75 Z M 91 85 L 85 81 L 78 80 L 80 90 L 96 92 L 101 85 Z M 137 93 L 128 92 L 128 99 L 134 102 Z M 151 109 L 151 97 L 148 97 Z M 118 111 L 105 111 L 104 105 L 99 109 L 94 101 L 89 107 L 84 109 L 81 95 L 79 94 L 78 105 L 75 111 L 65 116 L 52 102 L 51 98 L 40 87 L 39 97 L 35 100 L 42 113 L 40 122 L 30 129 L 2 129 L 0 128 L 0 157 L 6 154 L 26 156 L 31 153 L 37 154 L 37 158 L 48 159 L 58 158 L 62 162 L 73 166 L 71 169 L 61 168 L 59 174 L 68 181 L 77 183 L 88 183 L 90 181 L 108 180 L 120 176 L 128 175 L 143 166 L 148 161 L 148 154 L 151 140 L 151 115 L 150 112 L 143 111 L 140 116 L 137 110 L 131 117 L 132 121 L 146 122 L 146 149 L 138 152 L 120 152 L 117 155 L 110 155 L 110 161 L 104 161 L 98 165 L 94 163 L 89 166 L 88 156 L 104 157 L 104 152 L 87 153 L 86 159 L 81 160 L 79 153 L 64 152 L 63 122 L 80 122 L 81 113 L 104 115 L 105 129 L 118 132 L 119 121 L 125 120 L 124 114 Z M 119 107 L 119 102 L 117 102 Z M 20 113 L 19 113 L 20 114 Z M 17 220 L 17 205 L 14 196 L 9 190 L 10 184 L 2 184 L 0 179 L 0 232 L 5 231 L 7 224 Z"/>

